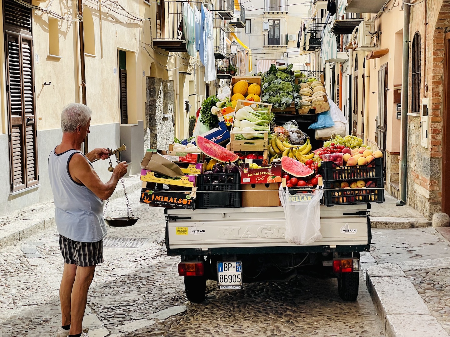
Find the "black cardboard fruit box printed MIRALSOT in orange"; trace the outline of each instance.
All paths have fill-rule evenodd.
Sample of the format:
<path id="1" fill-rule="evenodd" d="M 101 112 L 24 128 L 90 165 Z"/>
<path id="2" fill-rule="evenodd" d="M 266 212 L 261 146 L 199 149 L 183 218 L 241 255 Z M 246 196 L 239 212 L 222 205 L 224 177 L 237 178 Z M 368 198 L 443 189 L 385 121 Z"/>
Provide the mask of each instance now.
<path id="1" fill-rule="evenodd" d="M 183 187 L 176 186 L 178 190 L 170 191 L 170 185 L 147 183 L 141 189 L 139 202 L 153 207 L 195 209 L 197 187 L 184 191 Z"/>

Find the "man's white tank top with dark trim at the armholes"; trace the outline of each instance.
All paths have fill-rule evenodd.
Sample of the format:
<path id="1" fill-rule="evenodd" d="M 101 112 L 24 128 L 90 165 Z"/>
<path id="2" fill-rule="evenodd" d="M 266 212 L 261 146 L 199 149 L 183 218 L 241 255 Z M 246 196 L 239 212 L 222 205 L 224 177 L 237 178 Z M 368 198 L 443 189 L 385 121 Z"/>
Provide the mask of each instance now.
<path id="1" fill-rule="evenodd" d="M 76 153 L 81 152 L 72 149 L 56 154 L 53 150 L 49 156 L 56 227 L 59 234 L 68 239 L 96 242 L 107 234 L 103 219 L 103 200 L 70 176 L 69 161 Z"/>

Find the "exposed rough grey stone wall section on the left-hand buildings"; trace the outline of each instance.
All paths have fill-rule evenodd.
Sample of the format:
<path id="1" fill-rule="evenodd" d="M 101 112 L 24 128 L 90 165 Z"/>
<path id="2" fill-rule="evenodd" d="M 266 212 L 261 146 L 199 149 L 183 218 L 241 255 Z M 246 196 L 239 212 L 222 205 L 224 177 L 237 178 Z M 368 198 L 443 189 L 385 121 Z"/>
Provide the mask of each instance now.
<path id="1" fill-rule="evenodd" d="M 174 137 L 175 93 L 173 81 L 147 77 L 144 147 L 168 150 Z"/>

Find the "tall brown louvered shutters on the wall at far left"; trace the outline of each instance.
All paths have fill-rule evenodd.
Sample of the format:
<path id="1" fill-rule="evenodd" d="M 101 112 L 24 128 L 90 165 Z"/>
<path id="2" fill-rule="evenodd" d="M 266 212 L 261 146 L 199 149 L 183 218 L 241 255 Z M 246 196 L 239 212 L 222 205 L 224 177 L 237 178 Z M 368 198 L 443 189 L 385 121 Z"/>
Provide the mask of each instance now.
<path id="1" fill-rule="evenodd" d="M 28 2 L 28 1 L 27 1 Z M 35 123 L 34 57 L 31 9 L 4 0 L 6 85 L 11 191 L 39 181 Z"/>

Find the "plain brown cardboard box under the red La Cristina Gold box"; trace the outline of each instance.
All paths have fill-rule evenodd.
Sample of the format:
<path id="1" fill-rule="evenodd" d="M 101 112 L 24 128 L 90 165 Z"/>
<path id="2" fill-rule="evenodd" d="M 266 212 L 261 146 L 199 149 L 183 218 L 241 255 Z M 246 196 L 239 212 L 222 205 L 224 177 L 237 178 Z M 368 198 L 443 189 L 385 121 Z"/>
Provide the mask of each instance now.
<path id="1" fill-rule="evenodd" d="M 242 185 L 242 207 L 280 206 L 279 183 Z"/>

